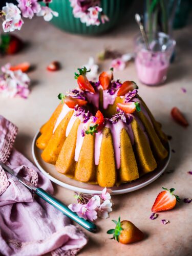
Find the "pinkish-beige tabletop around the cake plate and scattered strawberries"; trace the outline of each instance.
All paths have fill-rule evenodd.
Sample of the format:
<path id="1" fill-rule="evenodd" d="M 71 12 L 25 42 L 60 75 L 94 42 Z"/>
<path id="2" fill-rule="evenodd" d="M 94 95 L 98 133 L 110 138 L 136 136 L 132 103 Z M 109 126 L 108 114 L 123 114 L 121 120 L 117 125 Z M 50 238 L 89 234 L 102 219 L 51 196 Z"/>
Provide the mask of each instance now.
<path id="1" fill-rule="evenodd" d="M 134 80 L 139 84 L 139 94 L 157 120 L 163 123 L 163 130 L 172 135 L 171 143 L 176 153 L 173 153 L 167 170 L 174 169 L 174 172 L 165 173 L 157 181 L 141 190 L 115 196 L 113 198 L 115 207 L 111 217 L 97 221 L 100 232 L 89 233 L 90 241 L 80 255 L 185 256 L 191 254 L 192 203 L 181 202 L 174 210 L 161 213 L 156 220 L 149 219 L 151 207 L 162 186 L 175 187 L 181 199 L 192 197 L 192 176 L 187 174 L 187 171 L 192 169 L 191 125 L 184 129 L 170 117 L 170 110 L 173 106 L 178 106 L 192 124 L 192 47 L 189 40 L 191 29 L 192 26 L 188 26 L 174 33 L 177 41 L 177 58 L 170 67 L 164 86 L 151 88 L 140 84 L 134 63 L 130 63 L 124 71 L 114 73 L 116 78 Z M 90 56 L 96 56 L 106 46 L 131 52 L 133 38 L 137 33 L 136 25 L 124 25 L 100 37 L 81 37 L 59 31 L 40 19 L 26 22 L 19 35 L 22 35 L 25 40 L 30 40 L 28 48 L 20 54 L 0 60 L 1 65 L 8 61 L 16 64 L 25 60 L 36 65 L 36 69 L 29 73 L 34 81 L 29 99 L 1 98 L 0 100 L 1 114 L 19 128 L 16 148 L 32 160 L 32 139 L 57 105 L 58 93 L 76 86 L 75 69 L 87 63 Z M 51 73 L 46 70 L 46 66 L 53 60 L 62 63 L 61 71 Z M 101 69 L 109 68 L 109 65 L 108 61 L 101 62 Z M 185 88 L 187 93 L 183 93 L 181 87 Z M 67 204 L 75 202 L 73 192 L 59 186 L 55 186 L 55 196 Z M 132 221 L 145 232 L 145 240 L 132 245 L 121 245 L 109 240 L 110 236 L 106 234 L 106 230 L 114 227 L 111 220 L 119 216 L 122 220 Z M 161 219 L 169 220 L 170 224 L 163 225 Z"/>

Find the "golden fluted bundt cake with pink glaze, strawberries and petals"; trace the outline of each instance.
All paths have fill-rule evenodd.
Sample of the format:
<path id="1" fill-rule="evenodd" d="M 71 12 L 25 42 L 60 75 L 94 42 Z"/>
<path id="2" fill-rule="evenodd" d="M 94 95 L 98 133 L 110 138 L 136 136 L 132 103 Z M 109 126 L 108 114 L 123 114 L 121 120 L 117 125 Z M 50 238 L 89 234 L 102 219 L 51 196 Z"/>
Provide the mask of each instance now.
<path id="1" fill-rule="evenodd" d="M 133 81 L 113 79 L 113 70 L 89 81 L 75 73 L 78 88 L 61 100 L 36 145 L 44 161 L 77 181 L 113 187 L 152 172 L 167 157 L 167 137 Z"/>

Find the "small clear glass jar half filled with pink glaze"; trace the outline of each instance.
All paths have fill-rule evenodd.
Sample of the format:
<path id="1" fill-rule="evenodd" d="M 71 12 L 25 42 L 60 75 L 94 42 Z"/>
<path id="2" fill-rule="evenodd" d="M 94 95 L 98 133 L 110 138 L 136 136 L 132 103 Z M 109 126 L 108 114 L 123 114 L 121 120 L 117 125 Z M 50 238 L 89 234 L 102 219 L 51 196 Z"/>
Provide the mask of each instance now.
<path id="1" fill-rule="evenodd" d="M 139 80 L 148 86 L 156 86 L 166 80 L 176 41 L 162 32 L 147 37 L 150 49 L 146 49 L 142 36 L 135 40 L 135 65 Z"/>

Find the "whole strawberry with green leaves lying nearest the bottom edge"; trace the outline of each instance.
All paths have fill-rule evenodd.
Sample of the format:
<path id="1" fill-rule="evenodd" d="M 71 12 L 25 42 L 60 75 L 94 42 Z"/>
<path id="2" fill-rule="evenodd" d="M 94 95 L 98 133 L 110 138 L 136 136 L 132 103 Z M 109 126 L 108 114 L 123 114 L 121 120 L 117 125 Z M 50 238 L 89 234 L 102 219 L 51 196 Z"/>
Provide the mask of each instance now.
<path id="1" fill-rule="evenodd" d="M 113 234 L 113 238 L 121 244 L 131 244 L 143 240 L 144 234 L 131 221 L 113 220 L 116 224 L 115 229 L 107 231 L 108 234 Z"/>

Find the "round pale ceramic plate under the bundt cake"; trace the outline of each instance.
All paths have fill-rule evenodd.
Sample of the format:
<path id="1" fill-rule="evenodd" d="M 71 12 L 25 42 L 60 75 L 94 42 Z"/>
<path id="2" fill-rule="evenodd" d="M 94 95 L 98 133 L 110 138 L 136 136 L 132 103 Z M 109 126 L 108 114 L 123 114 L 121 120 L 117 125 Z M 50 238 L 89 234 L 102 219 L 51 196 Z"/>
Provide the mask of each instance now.
<path id="1" fill-rule="evenodd" d="M 90 194 L 95 194 L 95 193 L 100 194 L 101 193 L 103 188 L 100 187 L 99 185 L 82 183 L 82 182 L 70 179 L 63 174 L 58 173 L 56 171 L 54 165 L 44 162 L 40 157 L 41 150 L 39 150 L 39 148 L 37 148 L 36 144 L 35 144 L 39 135 L 40 135 L 40 133 L 37 132 L 33 139 L 32 154 L 33 154 L 33 159 L 34 159 L 37 167 L 47 178 L 49 178 L 54 183 L 56 183 L 62 187 L 68 188 L 70 190 L 73 190 L 73 191 L 82 192 L 82 193 L 90 193 Z M 157 178 L 159 178 L 159 176 L 166 169 L 166 167 L 169 163 L 169 160 L 170 160 L 170 144 L 169 143 L 167 144 L 167 148 L 168 148 L 168 156 L 166 159 L 164 159 L 158 165 L 156 170 L 154 170 L 153 172 L 148 173 L 130 183 L 125 183 L 125 184 L 121 184 L 119 186 L 112 187 L 111 188 L 113 190 L 112 194 L 118 195 L 118 194 L 132 192 L 134 190 L 140 189 L 140 188 L 152 183 Z"/>

